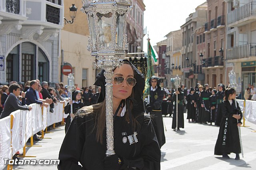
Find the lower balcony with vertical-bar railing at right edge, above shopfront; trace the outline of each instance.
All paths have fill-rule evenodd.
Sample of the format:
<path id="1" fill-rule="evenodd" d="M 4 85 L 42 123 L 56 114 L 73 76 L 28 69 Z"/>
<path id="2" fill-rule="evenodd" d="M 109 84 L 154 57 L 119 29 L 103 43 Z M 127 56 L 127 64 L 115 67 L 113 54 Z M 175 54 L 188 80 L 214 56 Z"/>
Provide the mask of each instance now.
<path id="1" fill-rule="evenodd" d="M 228 48 L 226 56 L 228 60 L 256 57 L 256 43 L 248 43 Z"/>

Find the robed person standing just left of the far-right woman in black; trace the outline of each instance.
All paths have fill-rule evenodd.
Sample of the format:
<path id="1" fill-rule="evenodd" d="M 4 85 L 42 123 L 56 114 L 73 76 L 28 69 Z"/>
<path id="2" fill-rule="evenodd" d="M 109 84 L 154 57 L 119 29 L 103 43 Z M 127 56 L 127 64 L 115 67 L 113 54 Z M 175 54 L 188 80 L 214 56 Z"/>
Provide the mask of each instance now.
<path id="1" fill-rule="evenodd" d="M 220 126 L 220 121 L 222 118 L 220 108 L 222 105 L 223 98 L 225 96 L 224 91 L 225 91 L 225 86 L 223 84 L 218 84 L 218 92 L 216 93 L 217 105 L 216 105 L 216 111 L 215 111 L 215 125 L 216 126 Z"/>

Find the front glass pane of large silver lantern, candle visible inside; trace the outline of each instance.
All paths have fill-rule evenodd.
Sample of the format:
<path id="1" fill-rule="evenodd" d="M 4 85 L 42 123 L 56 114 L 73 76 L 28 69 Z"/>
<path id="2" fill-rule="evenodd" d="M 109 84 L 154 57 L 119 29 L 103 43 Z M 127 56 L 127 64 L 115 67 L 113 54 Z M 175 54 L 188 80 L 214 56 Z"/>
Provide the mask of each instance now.
<path id="1" fill-rule="evenodd" d="M 102 47 L 109 47 L 112 41 L 111 25 L 112 25 L 112 12 L 108 14 L 97 13 L 98 23 L 100 27 L 100 45 Z"/>

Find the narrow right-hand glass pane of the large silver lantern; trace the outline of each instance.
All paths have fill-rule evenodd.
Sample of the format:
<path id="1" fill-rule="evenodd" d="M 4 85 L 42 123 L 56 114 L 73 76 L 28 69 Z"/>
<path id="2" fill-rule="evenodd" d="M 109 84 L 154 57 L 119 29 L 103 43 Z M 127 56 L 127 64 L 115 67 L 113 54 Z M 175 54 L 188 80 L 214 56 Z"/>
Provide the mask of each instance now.
<path id="1" fill-rule="evenodd" d="M 116 12 L 116 46 L 122 47 L 123 46 L 123 29 L 125 26 L 125 14 L 118 14 Z"/>

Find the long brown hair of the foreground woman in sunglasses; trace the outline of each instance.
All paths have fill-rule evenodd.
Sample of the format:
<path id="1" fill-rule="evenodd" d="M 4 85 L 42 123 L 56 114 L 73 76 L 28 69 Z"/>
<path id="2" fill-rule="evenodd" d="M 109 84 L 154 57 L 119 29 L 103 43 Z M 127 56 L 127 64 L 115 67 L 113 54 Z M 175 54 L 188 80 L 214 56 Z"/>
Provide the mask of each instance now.
<path id="1" fill-rule="evenodd" d="M 124 64 L 129 64 L 129 63 L 124 62 Z M 134 78 L 136 79 L 135 73 L 134 73 Z M 134 89 L 133 88 L 132 88 L 132 94 L 130 97 L 134 98 Z M 128 106 L 126 106 L 126 108 L 129 107 L 130 111 L 132 111 L 132 106 L 133 106 L 133 104 L 129 100 Z M 126 109 L 126 113 L 124 115 L 125 121 L 127 123 L 130 123 L 129 113 L 128 113 L 129 109 Z M 115 111 L 113 111 L 113 113 L 114 112 Z M 94 119 L 95 119 L 94 127 L 92 128 L 90 133 L 92 133 L 94 130 L 96 130 L 96 140 L 97 140 L 97 142 L 100 142 L 100 144 L 103 144 L 103 131 L 104 131 L 105 125 L 106 125 L 106 99 L 104 99 L 104 101 L 102 101 L 101 103 L 83 107 L 76 112 L 76 116 L 82 117 L 82 116 L 88 116 L 88 115 L 92 115 L 92 117 L 94 117 Z M 134 117 L 134 115 L 132 114 L 133 130 L 135 130 L 136 128 L 140 128 L 140 124 L 136 120 L 138 117 L 139 116 Z"/>

